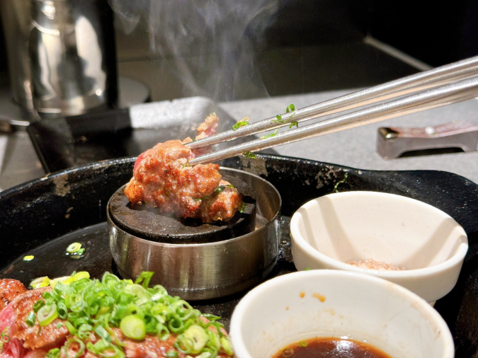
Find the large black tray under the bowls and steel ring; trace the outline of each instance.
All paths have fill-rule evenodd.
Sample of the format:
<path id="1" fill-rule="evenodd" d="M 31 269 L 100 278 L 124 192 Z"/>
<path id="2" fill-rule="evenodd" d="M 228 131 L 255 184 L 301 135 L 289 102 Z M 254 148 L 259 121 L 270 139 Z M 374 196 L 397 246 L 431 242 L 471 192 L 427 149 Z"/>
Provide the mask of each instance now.
<path id="1" fill-rule="evenodd" d="M 0 194 L 0 278 L 28 284 L 42 275 L 67 275 L 89 270 L 98 277 L 115 272 L 105 234 L 106 203 L 130 179 L 135 158 L 95 163 L 52 174 Z M 453 291 L 436 302 L 453 333 L 456 357 L 478 352 L 478 185 L 459 175 L 440 171 L 361 171 L 317 161 L 259 155 L 258 159 L 231 158 L 223 166 L 261 175 L 283 199 L 283 238 L 280 257 L 270 277 L 295 271 L 290 255 L 288 217 L 302 204 L 334 190 L 390 192 L 431 204 L 450 214 L 468 235 L 470 250 Z M 64 255 L 67 243 L 81 240 L 86 256 L 73 260 Z M 21 258 L 36 255 L 30 262 Z M 226 326 L 241 296 L 194 302 L 207 313 L 223 316 Z"/>

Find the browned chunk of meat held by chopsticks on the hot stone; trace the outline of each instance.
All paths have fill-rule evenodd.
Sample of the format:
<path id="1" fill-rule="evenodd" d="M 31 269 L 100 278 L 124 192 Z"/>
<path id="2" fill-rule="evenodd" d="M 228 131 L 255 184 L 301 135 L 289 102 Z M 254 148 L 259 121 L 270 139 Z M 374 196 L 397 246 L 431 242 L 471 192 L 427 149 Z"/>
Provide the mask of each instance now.
<path id="1" fill-rule="evenodd" d="M 198 137 L 206 137 L 216 128 L 217 116 L 209 115 L 198 127 Z M 241 195 L 233 187 L 215 192 L 221 185 L 219 166 L 188 166 L 194 156 L 178 140 L 159 143 L 145 151 L 137 158 L 133 178 L 125 188 L 128 200 L 133 205 L 147 204 L 160 212 L 200 218 L 203 222 L 231 219 L 241 209 Z"/>

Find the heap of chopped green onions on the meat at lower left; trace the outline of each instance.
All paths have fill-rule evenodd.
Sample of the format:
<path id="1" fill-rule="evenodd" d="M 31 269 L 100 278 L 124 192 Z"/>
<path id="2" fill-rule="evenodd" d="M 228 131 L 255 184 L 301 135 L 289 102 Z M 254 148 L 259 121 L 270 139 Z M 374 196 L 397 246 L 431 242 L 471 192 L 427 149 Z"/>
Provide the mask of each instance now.
<path id="1" fill-rule="evenodd" d="M 215 358 L 220 351 L 234 354 L 229 337 L 221 333 L 220 317 L 204 314 L 209 322 L 203 323 L 200 311 L 188 302 L 169 296 L 160 285 L 149 288 L 152 275 L 142 272 L 135 283 L 109 272 L 101 280 L 90 279 L 88 272 L 50 280 L 53 289 L 43 292 L 43 299 L 35 302 L 25 322 L 33 327 L 38 321 L 41 330 L 56 318 L 63 320 L 56 327 L 64 325 L 73 335 L 62 347 L 67 358 L 78 358 L 85 350 L 100 357 L 124 358 L 125 342 L 120 342 L 111 328 L 120 328 L 125 337 L 136 341 L 146 335 L 161 341 L 177 335 L 176 350 L 197 358 Z M 47 277 L 42 279 L 45 285 Z M 91 333 L 100 338 L 95 344 L 88 342 Z M 167 352 L 166 357 L 177 357 L 176 350 Z M 47 358 L 59 358 L 61 353 L 59 348 L 52 349 Z"/>

